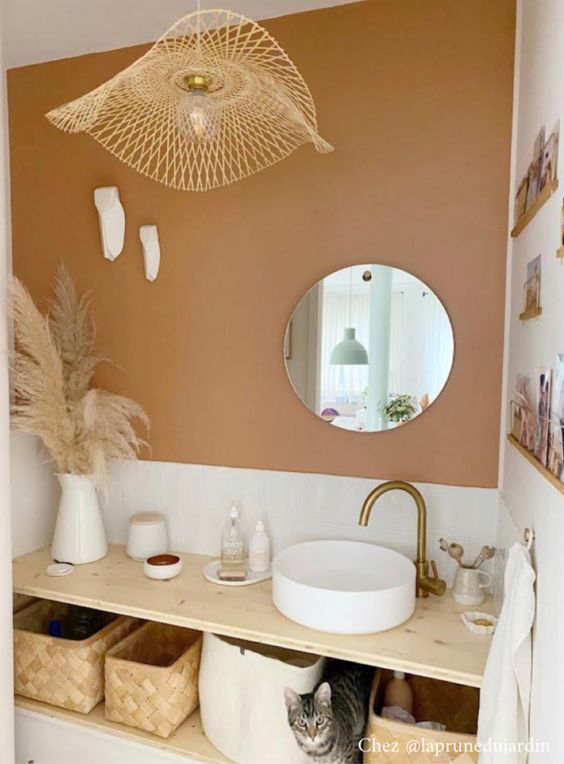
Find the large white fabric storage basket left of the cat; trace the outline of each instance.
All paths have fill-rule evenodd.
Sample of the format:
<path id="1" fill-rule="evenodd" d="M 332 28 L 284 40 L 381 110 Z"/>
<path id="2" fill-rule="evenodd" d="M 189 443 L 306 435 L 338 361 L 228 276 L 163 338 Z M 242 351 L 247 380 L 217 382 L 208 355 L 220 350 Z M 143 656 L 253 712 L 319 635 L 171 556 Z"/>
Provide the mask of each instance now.
<path id="1" fill-rule="evenodd" d="M 324 663 L 315 655 L 204 634 L 199 689 L 208 739 L 237 764 L 311 764 L 288 725 L 284 687 L 311 692 Z"/>

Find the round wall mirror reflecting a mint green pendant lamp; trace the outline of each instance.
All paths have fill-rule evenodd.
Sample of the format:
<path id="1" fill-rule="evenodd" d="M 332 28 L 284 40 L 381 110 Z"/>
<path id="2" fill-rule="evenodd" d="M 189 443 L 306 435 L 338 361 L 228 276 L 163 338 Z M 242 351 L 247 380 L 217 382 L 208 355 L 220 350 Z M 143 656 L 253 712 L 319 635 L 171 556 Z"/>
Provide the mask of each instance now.
<path id="1" fill-rule="evenodd" d="M 284 342 L 302 403 L 335 427 L 389 430 L 422 414 L 452 368 L 443 304 L 415 276 L 354 265 L 326 276 L 298 303 Z"/>

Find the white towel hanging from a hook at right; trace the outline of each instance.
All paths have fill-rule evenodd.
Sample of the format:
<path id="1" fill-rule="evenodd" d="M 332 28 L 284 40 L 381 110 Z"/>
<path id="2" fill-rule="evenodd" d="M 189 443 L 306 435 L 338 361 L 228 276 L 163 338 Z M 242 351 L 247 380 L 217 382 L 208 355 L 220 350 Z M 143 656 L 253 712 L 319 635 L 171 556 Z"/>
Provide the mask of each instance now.
<path id="1" fill-rule="evenodd" d="M 524 764 L 527 760 L 534 582 L 528 550 L 514 544 L 507 556 L 503 606 L 480 692 L 480 764 Z M 516 744 L 522 744 L 522 751 L 513 750 Z"/>

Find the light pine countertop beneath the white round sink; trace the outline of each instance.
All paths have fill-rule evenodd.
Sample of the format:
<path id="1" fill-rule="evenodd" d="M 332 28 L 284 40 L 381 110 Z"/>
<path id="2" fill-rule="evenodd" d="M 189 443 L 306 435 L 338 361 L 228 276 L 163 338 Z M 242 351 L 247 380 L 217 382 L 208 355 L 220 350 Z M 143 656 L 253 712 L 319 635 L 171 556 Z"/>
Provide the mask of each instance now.
<path id="1" fill-rule="evenodd" d="M 279 645 L 308 653 L 397 669 L 479 687 L 491 637 L 471 634 L 460 613 L 473 608 L 444 597 L 417 600 L 406 623 L 360 636 L 326 634 L 300 626 L 276 610 L 270 581 L 244 587 L 211 584 L 202 576 L 210 557 L 181 555 L 184 570 L 171 581 L 152 581 L 122 546 L 107 557 L 77 565 L 68 576 L 45 574 L 49 549 L 19 557 L 13 564 L 14 591 L 175 624 L 215 634 Z M 488 601 L 480 610 L 493 613 Z"/>

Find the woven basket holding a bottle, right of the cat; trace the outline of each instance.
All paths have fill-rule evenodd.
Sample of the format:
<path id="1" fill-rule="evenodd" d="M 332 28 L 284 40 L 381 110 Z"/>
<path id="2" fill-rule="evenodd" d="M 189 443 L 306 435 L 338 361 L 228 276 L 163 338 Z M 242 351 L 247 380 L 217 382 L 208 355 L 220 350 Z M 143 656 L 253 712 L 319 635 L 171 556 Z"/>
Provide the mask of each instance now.
<path id="1" fill-rule="evenodd" d="M 416 718 L 444 720 L 448 726 L 449 709 L 455 709 L 457 726 L 472 725 L 474 703 L 478 702 L 478 691 L 474 688 L 424 677 L 412 677 L 410 684 L 416 698 Z M 382 672 L 377 670 L 363 741 L 364 764 L 474 764 L 478 761 L 475 735 L 428 730 L 378 716 L 375 709 L 381 693 Z"/>

